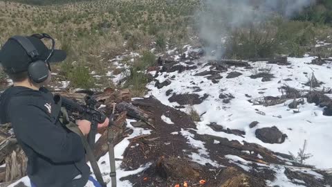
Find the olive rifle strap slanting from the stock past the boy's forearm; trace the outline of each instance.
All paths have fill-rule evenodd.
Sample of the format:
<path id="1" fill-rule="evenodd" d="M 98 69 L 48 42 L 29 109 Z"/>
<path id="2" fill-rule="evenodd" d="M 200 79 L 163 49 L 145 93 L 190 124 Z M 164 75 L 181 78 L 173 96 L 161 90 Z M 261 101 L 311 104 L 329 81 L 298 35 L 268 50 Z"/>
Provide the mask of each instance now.
<path id="1" fill-rule="evenodd" d="M 106 187 L 106 184 L 104 183 L 104 179 L 102 179 L 102 173 L 100 172 L 100 168 L 98 166 L 98 163 L 95 159 L 95 156 L 93 155 L 93 152 L 90 148 L 90 145 L 88 141 L 86 141 L 86 137 L 82 134 L 81 130 L 77 127 L 77 125 L 71 121 L 69 121 L 68 113 L 66 111 L 66 108 L 61 107 L 61 112 L 63 118 L 60 118 L 60 122 L 62 124 L 65 124 L 68 130 L 71 130 L 75 134 L 81 137 L 82 143 L 84 145 L 85 151 L 86 151 L 86 157 L 91 163 L 91 168 L 93 170 L 93 173 L 95 174 L 95 178 L 98 180 L 101 186 Z M 112 180 L 113 181 L 113 180 Z"/>

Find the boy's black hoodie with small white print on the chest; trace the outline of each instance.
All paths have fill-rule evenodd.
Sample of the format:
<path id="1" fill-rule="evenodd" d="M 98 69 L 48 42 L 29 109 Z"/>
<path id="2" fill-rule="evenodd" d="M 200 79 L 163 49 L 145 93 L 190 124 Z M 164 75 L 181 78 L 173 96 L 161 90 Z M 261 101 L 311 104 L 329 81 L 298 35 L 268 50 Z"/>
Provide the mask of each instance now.
<path id="1" fill-rule="evenodd" d="M 27 174 L 37 187 L 82 187 L 90 168 L 80 136 L 59 122 L 45 88 L 10 87 L 0 97 L 0 122 L 11 123 L 28 157 Z M 82 176 L 80 179 L 75 179 Z"/>

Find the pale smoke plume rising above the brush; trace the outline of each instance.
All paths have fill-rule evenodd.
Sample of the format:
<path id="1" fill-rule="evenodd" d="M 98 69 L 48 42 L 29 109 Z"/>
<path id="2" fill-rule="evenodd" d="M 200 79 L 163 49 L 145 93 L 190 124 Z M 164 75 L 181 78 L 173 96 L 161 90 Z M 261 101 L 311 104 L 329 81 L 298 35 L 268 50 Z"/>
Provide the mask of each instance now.
<path id="1" fill-rule="evenodd" d="M 209 51 L 222 44 L 230 30 L 259 24 L 274 15 L 290 18 L 312 3 L 315 0 L 205 0 L 203 10 L 196 12 L 196 29 Z"/>

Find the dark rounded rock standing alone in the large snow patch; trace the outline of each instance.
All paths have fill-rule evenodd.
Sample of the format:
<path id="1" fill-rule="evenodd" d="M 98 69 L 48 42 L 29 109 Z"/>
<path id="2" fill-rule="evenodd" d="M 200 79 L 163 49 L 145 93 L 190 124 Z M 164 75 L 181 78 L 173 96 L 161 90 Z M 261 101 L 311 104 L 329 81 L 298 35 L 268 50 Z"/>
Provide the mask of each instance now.
<path id="1" fill-rule="evenodd" d="M 284 143 L 287 135 L 282 134 L 277 127 L 265 127 L 256 130 L 257 139 L 260 139 L 264 143 Z"/>

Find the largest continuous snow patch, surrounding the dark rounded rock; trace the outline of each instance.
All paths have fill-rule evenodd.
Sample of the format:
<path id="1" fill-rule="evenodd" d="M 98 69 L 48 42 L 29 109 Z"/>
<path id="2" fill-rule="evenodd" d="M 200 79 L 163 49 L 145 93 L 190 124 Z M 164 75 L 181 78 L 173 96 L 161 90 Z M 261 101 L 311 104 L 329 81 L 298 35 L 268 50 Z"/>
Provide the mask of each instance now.
<path id="1" fill-rule="evenodd" d="M 191 46 L 185 46 L 184 48 L 191 48 Z M 172 73 L 161 73 L 157 80 L 163 82 L 168 77 L 176 75 L 176 79 L 172 80 L 173 93 L 176 94 L 187 94 L 193 93 L 194 86 L 200 87 L 202 91 L 195 92 L 194 94 L 199 94 L 203 96 L 204 94 L 209 94 L 209 97 L 205 99 L 200 105 L 194 105 L 194 108 L 201 115 L 201 122 L 197 123 L 197 133 L 198 134 L 211 134 L 214 136 L 221 136 L 227 138 L 228 140 L 236 140 L 240 143 L 247 141 L 250 143 L 258 143 L 274 152 L 282 152 L 284 154 L 289 154 L 292 152 L 296 154 L 299 148 L 302 148 L 304 140 L 307 140 L 306 152 L 313 154 L 313 157 L 305 161 L 306 164 L 316 166 L 317 168 L 332 168 L 332 160 L 326 159 L 332 152 L 332 147 L 329 142 L 332 141 L 332 130 L 331 127 L 331 117 L 323 116 L 323 108 L 316 106 L 315 104 L 309 104 L 305 102 L 304 105 L 299 105 L 299 113 L 294 114 L 292 109 L 288 109 L 288 106 L 284 103 L 280 105 L 264 107 L 261 105 L 252 105 L 248 102 L 245 94 L 252 96 L 252 98 L 261 98 L 264 96 L 281 96 L 282 93 L 279 91 L 278 87 L 282 87 L 287 84 L 290 87 L 295 87 L 296 89 L 309 89 L 304 83 L 308 81 L 308 76 L 311 73 L 315 73 L 317 80 L 324 82 L 319 89 L 323 87 L 332 87 L 332 74 L 331 69 L 327 67 L 332 67 L 332 64 L 324 64 L 322 66 L 317 66 L 311 63 L 315 57 L 288 57 L 288 61 L 291 65 L 279 66 L 277 64 L 266 64 L 266 62 L 250 62 L 250 65 L 254 69 L 268 68 L 272 67 L 271 72 L 275 78 L 269 82 L 261 82 L 261 78 L 252 79 L 249 76 L 253 74 L 252 71 L 245 69 L 243 67 L 232 67 L 224 73 L 220 73 L 224 78 L 219 81 L 218 84 L 212 84 L 210 80 L 203 78 L 202 76 L 193 76 L 196 73 L 210 70 L 210 66 L 204 66 L 204 60 L 194 61 L 198 69 L 191 71 L 184 71 L 182 73 L 172 72 Z M 199 64 L 203 62 L 203 64 Z M 181 63 L 182 64 L 182 63 Z M 227 73 L 232 71 L 237 71 L 242 73 L 237 78 L 227 79 Z M 304 73 L 307 73 L 304 74 Z M 286 81 L 285 79 L 291 78 L 291 81 Z M 280 81 L 280 82 L 279 82 Z M 194 82 L 196 85 L 192 85 L 190 82 Z M 278 83 L 279 82 L 279 83 Z M 165 92 L 169 87 L 163 87 L 157 89 L 154 87 L 155 82 L 151 82 L 147 85 L 150 89 L 149 94 L 156 97 L 164 105 L 170 107 L 179 106 L 178 103 L 170 103 Z M 223 91 L 222 91 L 223 90 Z M 264 93 L 259 93 L 264 92 Z M 219 94 L 232 94 L 235 98 L 230 100 L 230 103 L 224 104 L 222 100 L 219 99 Z M 286 103 L 290 103 L 288 100 Z M 181 111 L 186 112 L 185 109 Z M 264 115 L 257 114 L 257 111 L 264 112 Z M 282 118 L 277 118 L 275 116 L 281 116 Z M 252 121 L 258 121 L 259 126 L 251 129 L 249 124 Z M 226 134 L 224 132 L 214 132 L 208 124 L 217 123 L 223 125 L 225 128 L 237 129 L 246 132 L 244 138 L 241 136 L 236 136 L 234 134 Z M 282 144 L 269 144 L 264 143 L 256 138 L 255 130 L 262 127 L 273 127 L 276 126 L 278 129 L 287 134 L 288 138 Z"/>

